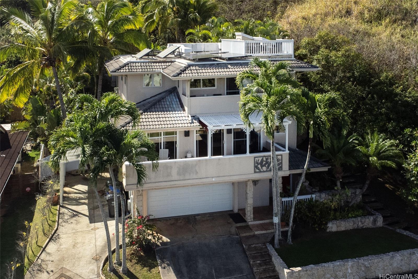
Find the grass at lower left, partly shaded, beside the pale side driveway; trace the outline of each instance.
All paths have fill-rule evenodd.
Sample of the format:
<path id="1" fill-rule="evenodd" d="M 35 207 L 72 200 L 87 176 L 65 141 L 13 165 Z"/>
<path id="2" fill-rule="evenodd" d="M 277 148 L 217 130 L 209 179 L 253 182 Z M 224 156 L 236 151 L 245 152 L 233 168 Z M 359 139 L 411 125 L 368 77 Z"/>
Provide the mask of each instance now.
<path id="1" fill-rule="evenodd" d="M 22 255 L 17 252 L 16 245 L 19 239 L 18 232 L 25 231 L 25 221 L 32 222 L 33 224 L 40 222 L 41 214 L 38 210 L 33 212 L 33 207 L 35 204 L 41 204 L 45 202 L 44 199 L 39 199 L 38 201 L 35 200 L 35 197 L 28 197 L 21 200 L 16 200 L 10 205 L 10 209 L 8 213 L 3 217 L 4 220 L 1 224 L 0 230 L 0 278 L 3 278 L 4 273 L 6 272 L 6 263 L 10 263 L 14 261 L 14 258 L 18 258 L 19 261 L 25 263 L 25 266 L 28 267 L 28 261 L 24 261 Z M 55 220 L 56 220 L 56 212 L 57 208 L 53 207 L 51 210 L 49 222 L 49 230 L 48 232 L 51 233 L 55 227 Z M 35 230 L 36 226 L 33 226 L 33 230 Z M 43 244 L 45 243 L 47 236 L 43 235 L 41 225 L 38 226 L 39 230 L 39 239 L 38 245 L 33 245 L 33 253 L 31 251 L 30 258 L 35 260 L 36 256 L 38 255 L 39 251 Z M 31 234 L 35 233 L 31 231 Z M 23 264 L 19 266 L 16 272 L 16 279 L 22 279 L 26 273 L 27 269 L 23 268 Z"/>

